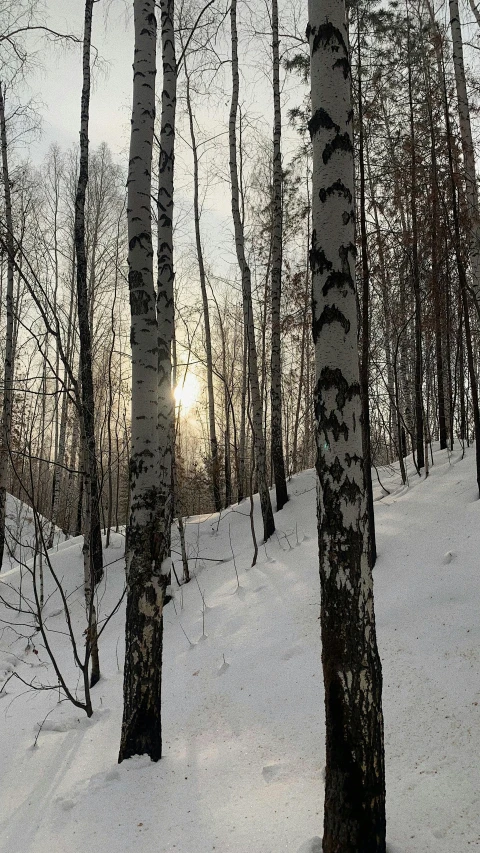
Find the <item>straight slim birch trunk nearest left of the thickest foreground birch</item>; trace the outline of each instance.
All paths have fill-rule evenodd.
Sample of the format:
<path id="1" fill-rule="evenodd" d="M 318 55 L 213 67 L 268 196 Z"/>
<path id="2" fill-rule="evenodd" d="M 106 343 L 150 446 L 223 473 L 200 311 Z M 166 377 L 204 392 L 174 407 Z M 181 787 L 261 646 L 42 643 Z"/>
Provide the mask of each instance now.
<path id="1" fill-rule="evenodd" d="M 278 2 L 272 0 L 273 53 L 273 198 L 272 198 L 272 355 L 271 355 L 271 431 L 272 463 L 275 476 L 277 512 L 288 501 L 282 430 L 282 362 L 280 347 L 280 308 L 282 295 L 282 111 L 280 107 L 280 51 Z"/>

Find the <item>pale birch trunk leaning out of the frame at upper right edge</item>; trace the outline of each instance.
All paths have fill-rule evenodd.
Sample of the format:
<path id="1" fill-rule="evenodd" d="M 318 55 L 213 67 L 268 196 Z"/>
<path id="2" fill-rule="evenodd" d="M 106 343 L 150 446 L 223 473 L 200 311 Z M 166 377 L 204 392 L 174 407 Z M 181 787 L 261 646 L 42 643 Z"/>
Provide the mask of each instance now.
<path id="1" fill-rule="evenodd" d="M 470 107 L 468 103 L 465 65 L 463 61 L 462 28 L 458 0 L 449 0 L 450 29 L 453 44 L 453 66 L 457 90 L 460 136 L 462 140 L 463 167 L 465 173 L 465 196 L 469 218 L 469 252 L 472 274 L 472 289 L 476 304 L 480 300 L 480 216 L 478 188 L 475 173 L 475 149 L 473 147 Z M 478 310 L 478 309 L 477 309 Z"/>

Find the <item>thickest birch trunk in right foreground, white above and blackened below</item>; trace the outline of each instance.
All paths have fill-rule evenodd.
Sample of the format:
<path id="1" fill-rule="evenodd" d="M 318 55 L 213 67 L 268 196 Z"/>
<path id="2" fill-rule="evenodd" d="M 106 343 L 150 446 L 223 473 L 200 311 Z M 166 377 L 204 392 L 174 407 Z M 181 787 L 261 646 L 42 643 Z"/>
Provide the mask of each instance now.
<path id="1" fill-rule="evenodd" d="M 353 112 L 343 0 L 309 0 L 324 853 L 385 853 L 382 676 L 368 559 L 357 349 Z"/>

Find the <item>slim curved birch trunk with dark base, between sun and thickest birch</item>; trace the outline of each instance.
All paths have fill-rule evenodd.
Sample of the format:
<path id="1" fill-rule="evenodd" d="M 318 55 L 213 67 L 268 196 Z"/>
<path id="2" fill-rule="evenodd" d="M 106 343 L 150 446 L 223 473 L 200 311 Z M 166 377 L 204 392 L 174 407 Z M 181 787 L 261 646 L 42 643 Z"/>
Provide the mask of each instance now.
<path id="1" fill-rule="evenodd" d="M 237 0 L 232 0 L 230 6 L 230 25 L 232 36 L 232 102 L 228 124 L 228 140 L 230 147 L 230 181 L 232 188 L 232 216 L 235 230 L 235 248 L 238 266 L 242 277 L 243 317 L 247 338 L 248 381 L 252 402 L 252 429 L 255 445 L 255 462 L 257 469 L 258 490 L 263 519 L 263 537 L 266 541 L 275 531 L 272 504 L 267 483 L 267 466 L 265 456 L 265 438 L 263 433 L 262 401 L 258 381 L 257 347 L 253 325 L 252 281 L 250 267 L 245 256 L 245 238 L 243 219 L 240 216 L 240 193 L 237 167 L 237 112 L 239 96 L 238 74 L 238 36 L 237 36 Z"/>

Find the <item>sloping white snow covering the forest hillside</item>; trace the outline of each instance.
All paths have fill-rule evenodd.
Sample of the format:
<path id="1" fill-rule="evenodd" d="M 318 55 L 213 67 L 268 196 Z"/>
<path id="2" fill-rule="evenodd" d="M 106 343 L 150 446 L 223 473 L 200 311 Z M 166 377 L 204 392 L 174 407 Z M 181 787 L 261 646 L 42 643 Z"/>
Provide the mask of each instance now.
<path id="1" fill-rule="evenodd" d="M 434 460 L 427 480 L 409 467 L 408 489 L 393 469 L 379 471 L 390 494 L 375 486 L 390 853 L 480 848 L 480 501 L 472 450 L 464 459 L 460 451 L 436 452 Z M 2 853 L 320 850 L 314 473 L 294 477 L 289 491 L 276 515 L 278 535 L 260 546 L 254 568 L 247 503 L 186 525 L 195 578 L 165 610 L 158 764 L 138 757 L 117 765 L 123 608 L 102 637 L 102 679 L 88 720 L 58 703 L 58 691 L 32 691 L 15 677 L 1 689 L 13 672 L 36 686 L 56 682 L 38 633 L 25 627 L 28 613 L 0 604 Z M 100 616 L 121 596 L 122 553 L 123 539 L 114 536 L 105 551 Z M 59 545 L 52 565 L 70 593 L 81 638 L 81 541 Z M 180 574 L 180 558 L 176 569 Z M 0 584 L 12 604 L 19 577 L 13 567 Z M 28 576 L 23 584 L 27 589 Z M 58 662 L 75 688 L 58 595 L 45 611 Z"/>

